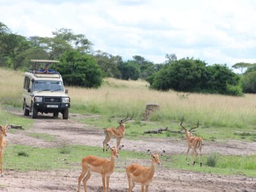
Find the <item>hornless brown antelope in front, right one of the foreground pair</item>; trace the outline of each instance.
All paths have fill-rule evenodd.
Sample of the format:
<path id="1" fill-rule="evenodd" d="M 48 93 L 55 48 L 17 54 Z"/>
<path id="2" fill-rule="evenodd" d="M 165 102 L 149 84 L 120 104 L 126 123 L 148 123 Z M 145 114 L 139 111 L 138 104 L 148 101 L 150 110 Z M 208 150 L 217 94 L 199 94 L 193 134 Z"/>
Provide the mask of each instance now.
<path id="1" fill-rule="evenodd" d="M 163 152 L 165 152 L 163 150 Z M 141 166 L 140 164 L 130 164 L 126 168 L 126 174 L 128 178 L 129 190 L 131 192 L 134 188 L 135 184 L 141 184 L 141 192 L 148 191 L 148 186 L 154 179 L 154 172 L 156 164 L 160 164 L 159 155 L 152 154 L 150 150 L 148 150 L 148 154 L 152 157 L 152 162 L 150 168 L 145 166 Z M 163 155 L 163 154 L 161 154 Z"/>

